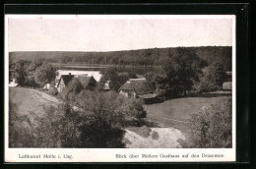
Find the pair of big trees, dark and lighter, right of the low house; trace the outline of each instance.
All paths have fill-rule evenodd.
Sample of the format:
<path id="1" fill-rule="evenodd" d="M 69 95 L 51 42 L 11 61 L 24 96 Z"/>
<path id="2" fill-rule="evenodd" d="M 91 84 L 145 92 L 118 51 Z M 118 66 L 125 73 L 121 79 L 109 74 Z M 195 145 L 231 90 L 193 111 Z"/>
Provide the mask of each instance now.
<path id="1" fill-rule="evenodd" d="M 227 79 L 224 62 L 208 63 L 187 48 L 177 48 L 166 61 L 145 75 L 160 99 L 221 89 Z"/>

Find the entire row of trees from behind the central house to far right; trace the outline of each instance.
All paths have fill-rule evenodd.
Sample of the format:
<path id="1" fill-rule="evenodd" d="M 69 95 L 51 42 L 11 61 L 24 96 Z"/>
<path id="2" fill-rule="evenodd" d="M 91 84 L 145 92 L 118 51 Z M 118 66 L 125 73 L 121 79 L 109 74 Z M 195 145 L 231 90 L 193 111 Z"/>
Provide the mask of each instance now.
<path id="1" fill-rule="evenodd" d="M 168 53 L 163 64 L 146 71 L 117 66 L 108 67 L 100 73 L 102 78 L 98 88 L 109 82 L 110 89 L 118 91 L 129 79 L 143 77 L 155 87 L 155 92 L 163 100 L 222 89 L 223 83 L 230 81 L 223 60 L 208 63 L 185 47 L 176 48 L 175 53 Z"/>

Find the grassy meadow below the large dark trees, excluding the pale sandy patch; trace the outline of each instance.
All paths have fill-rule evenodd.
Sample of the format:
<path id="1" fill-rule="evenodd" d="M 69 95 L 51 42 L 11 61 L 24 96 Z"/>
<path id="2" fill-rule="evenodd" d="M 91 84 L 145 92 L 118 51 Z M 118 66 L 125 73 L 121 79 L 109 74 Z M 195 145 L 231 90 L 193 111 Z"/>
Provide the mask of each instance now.
<path id="1" fill-rule="evenodd" d="M 144 105 L 147 119 L 161 127 L 172 127 L 188 134 L 190 114 L 205 105 L 225 102 L 228 96 L 184 97 L 166 100 L 162 103 Z"/>

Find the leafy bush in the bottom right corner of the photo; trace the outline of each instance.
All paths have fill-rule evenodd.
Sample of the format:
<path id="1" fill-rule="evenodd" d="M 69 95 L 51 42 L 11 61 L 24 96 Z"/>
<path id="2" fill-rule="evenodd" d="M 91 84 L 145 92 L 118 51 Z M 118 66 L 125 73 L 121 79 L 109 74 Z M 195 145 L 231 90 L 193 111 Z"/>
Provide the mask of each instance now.
<path id="1" fill-rule="evenodd" d="M 232 146 L 232 104 L 204 106 L 193 113 L 190 121 L 191 147 L 228 148 Z"/>

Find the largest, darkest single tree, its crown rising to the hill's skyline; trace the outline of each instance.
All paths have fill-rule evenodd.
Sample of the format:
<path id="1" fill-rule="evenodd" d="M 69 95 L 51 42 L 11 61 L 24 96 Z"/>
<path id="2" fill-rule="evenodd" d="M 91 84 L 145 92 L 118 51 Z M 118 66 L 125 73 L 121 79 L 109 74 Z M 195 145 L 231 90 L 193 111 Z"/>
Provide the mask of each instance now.
<path id="1" fill-rule="evenodd" d="M 178 47 L 175 52 L 169 53 L 169 58 L 160 69 L 148 73 L 146 78 L 156 86 L 156 92 L 163 98 L 186 95 L 186 91 L 191 90 L 194 82 L 199 80 L 206 65 L 192 50 Z"/>

